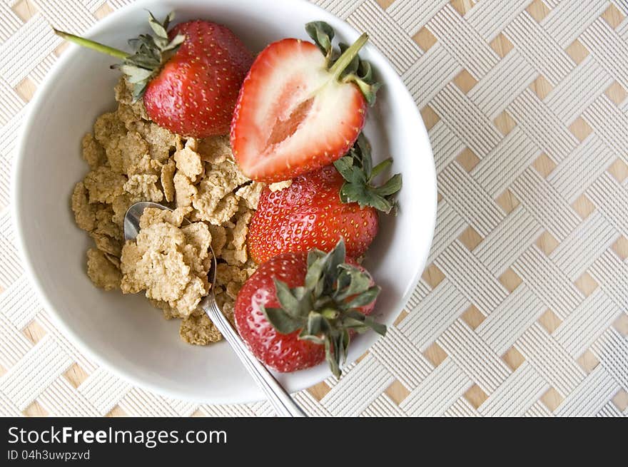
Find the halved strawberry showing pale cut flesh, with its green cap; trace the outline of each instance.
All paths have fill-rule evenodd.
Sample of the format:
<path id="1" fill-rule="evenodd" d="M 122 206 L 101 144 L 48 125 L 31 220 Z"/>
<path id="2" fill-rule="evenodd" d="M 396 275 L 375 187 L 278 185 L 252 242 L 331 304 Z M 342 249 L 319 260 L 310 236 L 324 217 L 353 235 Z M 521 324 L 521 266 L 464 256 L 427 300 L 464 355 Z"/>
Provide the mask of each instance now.
<path id="1" fill-rule="evenodd" d="M 286 180 L 342 157 L 375 100 L 379 85 L 358 57 L 368 36 L 341 45 L 335 58 L 328 24 L 310 23 L 306 30 L 318 47 L 300 39 L 271 43 L 240 88 L 231 146 L 240 170 L 253 180 Z"/>

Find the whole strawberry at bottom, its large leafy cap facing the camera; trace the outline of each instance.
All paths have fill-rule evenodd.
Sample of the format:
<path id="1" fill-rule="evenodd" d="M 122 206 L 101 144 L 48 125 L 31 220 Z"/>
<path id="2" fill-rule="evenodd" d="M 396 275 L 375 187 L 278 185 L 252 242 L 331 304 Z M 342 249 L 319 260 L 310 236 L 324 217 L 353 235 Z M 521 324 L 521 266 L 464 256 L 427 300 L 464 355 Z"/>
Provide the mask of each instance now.
<path id="1" fill-rule="evenodd" d="M 379 291 L 368 272 L 345 260 L 342 241 L 327 255 L 284 253 L 260 265 L 240 289 L 236 327 L 272 369 L 296 371 L 327 359 L 340 376 L 355 332 L 385 334 L 386 327 L 367 316 Z"/>

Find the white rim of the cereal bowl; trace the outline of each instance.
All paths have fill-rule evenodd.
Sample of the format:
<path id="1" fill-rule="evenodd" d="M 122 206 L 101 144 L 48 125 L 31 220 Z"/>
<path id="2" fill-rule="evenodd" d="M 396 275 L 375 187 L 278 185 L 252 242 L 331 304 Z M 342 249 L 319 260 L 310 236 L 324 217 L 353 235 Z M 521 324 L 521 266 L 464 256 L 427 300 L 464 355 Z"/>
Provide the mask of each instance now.
<path id="1" fill-rule="evenodd" d="M 146 6 L 148 5 L 154 6 L 155 1 L 156 0 L 138 0 L 132 4 L 125 5 L 121 7 L 120 9 L 113 11 L 111 14 L 109 14 L 105 18 L 99 21 L 96 21 L 95 24 L 93 24 L 90 28 L 84 31 L 82 36 L 86 38 L 91 38 L 93 36 L 101 34 L 102 32 L 109 29 L 113 24 L 115 24 L 115 21 L 116 19 L 118 19 L 118 17 L 128 14 L 128 12 L 131 10 L 136 11 L 138 9 L 146 9 Z M 245 0 L 238 0 L 238 1 L 244 1 L 245 3 Z M 318 9 L 321 12 L 321 14 L 333 16 L 337 21 L 342 23 L 345 26 L 345 29 L 350 31 L 352 35 L 355 34 L 355 37 L 358 37 L 360 34 L 353 26 L 348 24 L 348 22 L 345 21 L 344 19 L 340 19 L 338 16 L 331 13 L 330 11 L 323 9 L 321 6 L 318 6 L 317 4 L 313 4 L 308 0 L 278 0 L 278 1 L 282 1 L 283 3 L 290 2 L 290 4 L 294 5 L 293 6 L 294 8 L 300 8 L 300 7 L 306 6 L 310 9 Z M 405 83 L 403 83 L 403 81 L 401 80 L 399 76 L 399 73 L 397 73 L 397 71 L 395 71 L 395 68 L 393 68 L 393 66 L 390 64 L 390 61 L 388 60 L 388 58 L 386 58 L 386 56 L 382 52 L 380 52 L 380 50 L 376 46 L 374 46 L 373 43 L 368 43 L 365 46 L 365 48 L 368 48 L 371 54 L 378 55 L 379 56 L 378 59 L 386 67 L 390 68 L 390 71 L 392 71 L 394 75 L 400 80 L 400 83 L 402 84 L 401 91 L 402 93 L 405 93 L 405 96 L 402 96 L 402 99 L 413 102 L 414 98 L 412 98 L 410 91 L 407 90 Z M 123 381 L 127 381 L 129 384 L 133 384 L 133 386 L 138 386 L 143 389 L 153 391 L 156 394 L 161 394 L 163 396 L 171 397 L 173 399 L 180 399 L 180 400 L 193 401 L 193 402 L 202 402 L 202 403 L 208 403 L 208 404 L 244 404 L 247 402 L 261 400 L 261 399 L 252 399 L 250 401 L 248 400 L 240 401 L 240 400 L 235 400 L 235 399 L 211 399 L 211 400 L 202 399 L 201 400 L 201 399 L 196 399 L 195 397 L 192 397 L 192 396 L 188 396 L 185 393 L 181 393 L 172 389 L 167 389 L 167 388 L 164 388 L 163 386 L 159 386 L 158 384 L 153 384 L 153 382 L 151 381 L 139 379 L 138 377 L 136 377 L 135 374 L 133 374 L 133 372 L 127 371 L 126 369 L 121 369 L 115 364 L 111 363 L 105 354 L 101 354 L 101 352 L 92 349 L 92 347 L 88 343 L 88 339 L 83 339 L 83 337 L 80 334 L 74 331 L 74 329 L 71 326 L 71 323 L 67 322 L 64 318 L 61 317 L 60 314 L 56 312 L 56 308 L 51 303 L 51 300 L 46 295 L 46 293 L 44 293 L 44 287 L 41 283 L 41 279 L 36 274 L 36 268 L 34 266 L 36 263 L 36 260 L 34 259 L 34 257 L 31 257 L 31 255 L 29 255 L 29 252 L 26 248 L 26 243 L 24 240 L 24 225 L 22 222 L 21 215 L 19 214 L 19 207 L 23 204 L 23 200 L 20 194 L 21 192 L 19 189 L 18 180 L 21 179 L 19 174 L 23 172 L 24 160 L 26 158 L 25 150 L 26 150 L 26 141 L 28 139 L 27 135 L 29 134 L 31 127 L 34 124 L 34 119 L 36 117 L 36 109 L 41 106 L 41 102 L 44 101 L 44 98 L 46 98 L 46 91 L 53 85 L 56 79 L 59 78 L 58 75 L 60 74 L 60 71 L 66 66 L 68 62 L 72 61 L 76 57 L 76 55 L 80 53 L 81 50 L 82 48 L 80 46 L 77 46 L 74 43 L 69 44 L 69 47 L 64 52 L 64 54 L 56 61 L 56 63 L 54 63 L 54 65 L 51 67 L 48 73 L 46 73 L 46 77 L 44 78 L 44 81 L 41 83 L 41 85 L 39 86 L 39 88 L 37 89 L 35 93 L 35 96 L 31 99 L 29 103 L 29 108 L 26 111 L 24 120 L 21 123 L 21 128 L 18 135 L 18 144 L 16 145 L 16 156 L 14 160 L 14 168 L 11 172 L 11 217 L 13 219 L 13 222 L 16 228 L 16 244 L 17 244 L 16 246 L 18 247 L 19 255 L 21 256 L 24 262 L 24 270 L 26 272 L 26 277 L 28 277 L 30 284 L 32 284 L 32 286 L 34 287 L 36 295 L 39 301 L 41 302 L 41 304 L 43 304 L 44 309 L 47 312 L 49 312 L 49 317 L 51 317 L 51 320 L 53 321 L 54 325 L 61 331 L 61 333 L 65 337 L 69 339 L 69 341 L 72 344 L 74 344 L 74 347 L 76 347 L 76 349 L 80 351 L 82 354 L 88 356 L 88 358 L 94 361 L 98 366 L 103 367 L 103 369 L 106 369 L 106 371 L 111 372 L 111 374 L 118 376 L 119 378 L 123 379 Z M 435 161 L 434 161 L 434 157 L 432 153 L 432 146 L 430 143 L 429 135 L 427 133 L 427 129 L 425 128 L 425 123 L 423 122 L 420 112 L 416 105 L 413 106 L 413 111 L 415 113 L 415 117 L 417 117 L 417 123 L 419 123 L 418 125 L 419 128 L 417 128 L 417 130 L 420 133 L 422 133 L 423 138 L 421 138 L 421 140 L 425 142 L 422 145 L 423 147 L 421 148 L 424 151 L 423 157 L 429 158 L 429 160 L 431 160 L 431 164 L 429 165 L 431 166 L 432 170 L 430 170 L 429 173 L 426 175 L 430 179 L 428 180 L 430 183 L 429 183 L 429 187 L 427 188 L 430 191 L 430 198 L 432 199 L 432 202 L 428 202 L 428 200 L 424 200 L 425 206 L 430 208 L 429 212 L 427 212 L 426 210 L 425 218 L 423 219 L 423 221 L 426 224 L 426 227 L 427 227 L 427 223 L 429 222 L 430 229 L 427 230 L 426 228 L 426 234 L 427 232 L 430 232 L 429 241 L 427 241 L 425 245 L 423 245 L 422 247 L 420 267 L 417 267 L 415 271 L 415 275 L 414 277 L 412 277 L 412 280 L 410 281 L 410 283 L 412 284 L 412 287 L 408 287 L 405 294 L 399 299 L 399 302 L 403 303 L 404 306 L 405 304 L 407 304 L 412 292 L 414 292 L 417 284 L 419 283 L 420 277 L 422 274 L 422 268 L 425 267 L 425 263 L 427 262 L 427 257 L 429 255 L 430 248 L 433 242 L 435 225 L 436 225 L 436 216 L 437 216 L 437 178 L 436 178 L 436 172 L 435 172 Z M 429 160 L 428 160 L 428 163 L 429 163 Z M 390 317 L 388 318 L 390 325 L 392 325 L 393 320 L 398 316 L 398 314 L 401 311 L 402 309 L 399 309 L 397 310 L 396 313 L 390 313 Z M 374 333 L 371 333 L 371 334 L 374 334 Z M 370 349 L 370 347 L 375 343 L 377 339 L 378 337 L 375 337 L 375 336 L 371 336 L 370 338 L 368 338 L 367 340 L 369 342 L 366 345 L 366 349 Z M 323 376 L 320 379 L 320 381 L 323 381 L 323 379 L 325 379 L 326 377 L 327 376 Z M 310 386 L 311 384 L 307 384 L 305 386 L 301 384 L 299 385 L 298 389 L 295 389 L 295 391 L 300 391 Z"/>

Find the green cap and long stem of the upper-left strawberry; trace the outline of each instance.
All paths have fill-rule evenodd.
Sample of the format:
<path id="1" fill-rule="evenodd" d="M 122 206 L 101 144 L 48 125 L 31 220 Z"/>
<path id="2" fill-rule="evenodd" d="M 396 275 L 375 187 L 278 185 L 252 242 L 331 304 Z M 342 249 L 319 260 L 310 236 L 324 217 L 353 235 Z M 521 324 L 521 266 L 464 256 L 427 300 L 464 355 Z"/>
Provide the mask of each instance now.
<path id="1" fill-rule="evenodd" d="M 133 85 L 133 101 L 138 101 L 146 92 L 146 86 L 155 76 L 158 75 L 163 65 L 172 58 L 181 43 L 186 40 L 186 36 L 177 34 L 173 39 L 168 39 L 168 26 L 174 19 L 174 12 L 171 11 L 161 23 L 148 11 L 148 24 L 154 32 L 151 34 L 140 34 L 136 39 L 129 39 L 128 45 L 133 49 L 133 53 L 126 53 L 117 48 L 106 46 L 81 36 L 54 29 L 55 34 L 66 39 L 66 41 L 77 43 L 79 46 L 91 48 L 94 51 L 106 53 L 116 58 L 121 58 L 121 63 L 112 65 L 121 71 L 128 82 Z"/>

